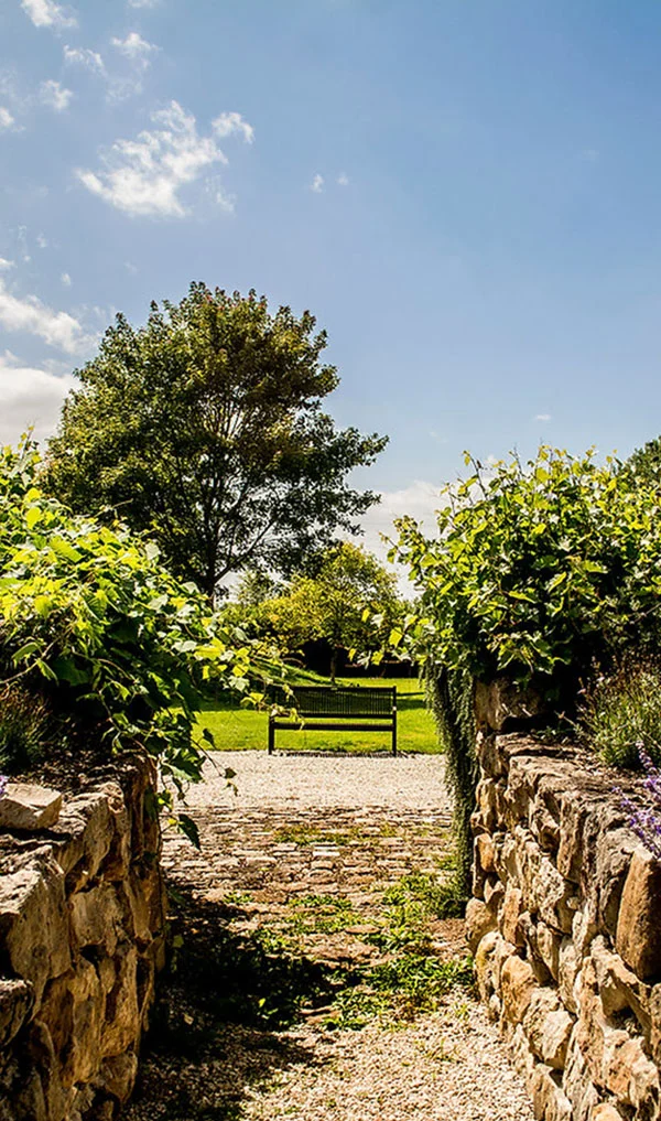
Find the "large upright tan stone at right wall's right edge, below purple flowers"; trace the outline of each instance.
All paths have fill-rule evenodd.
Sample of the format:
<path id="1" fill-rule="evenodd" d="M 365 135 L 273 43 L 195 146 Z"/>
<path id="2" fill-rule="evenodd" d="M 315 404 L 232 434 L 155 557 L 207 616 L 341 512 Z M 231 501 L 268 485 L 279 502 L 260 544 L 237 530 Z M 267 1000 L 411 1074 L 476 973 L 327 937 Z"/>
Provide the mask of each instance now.
<path id="1" fill-rule="evenodd" d="M 660 899 L 661 864 L 639 847 L 622 892 L 615 948 L 642 981 L 661 974 Z"/>

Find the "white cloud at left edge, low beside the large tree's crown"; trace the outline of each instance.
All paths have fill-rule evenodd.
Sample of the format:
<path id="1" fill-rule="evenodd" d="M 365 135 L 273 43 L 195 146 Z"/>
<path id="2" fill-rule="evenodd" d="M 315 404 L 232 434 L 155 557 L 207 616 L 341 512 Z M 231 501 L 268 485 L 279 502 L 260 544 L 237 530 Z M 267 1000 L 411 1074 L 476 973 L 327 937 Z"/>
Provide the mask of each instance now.
<path id="1" fill-rule="evenodd" d="M 62 402 L 75 379 L 22 365 L 13 354 L 0 354 L 0 444 L 17 444 L 34 428 L 46 439 L 57 427 Z"/>

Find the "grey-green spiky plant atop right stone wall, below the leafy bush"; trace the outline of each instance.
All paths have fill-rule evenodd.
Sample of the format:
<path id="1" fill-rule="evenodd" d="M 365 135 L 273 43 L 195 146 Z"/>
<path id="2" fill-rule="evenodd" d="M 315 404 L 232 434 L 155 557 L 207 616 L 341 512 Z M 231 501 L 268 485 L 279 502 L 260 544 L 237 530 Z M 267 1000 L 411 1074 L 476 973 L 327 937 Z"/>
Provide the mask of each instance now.
<path id="1" fill-rule="evenodd" d="M 639 769 L 640 749 L 661 762 L 661 669 L 625 661 L 586 689 L 579 708 L 583 741 L 605 763 Z"/>

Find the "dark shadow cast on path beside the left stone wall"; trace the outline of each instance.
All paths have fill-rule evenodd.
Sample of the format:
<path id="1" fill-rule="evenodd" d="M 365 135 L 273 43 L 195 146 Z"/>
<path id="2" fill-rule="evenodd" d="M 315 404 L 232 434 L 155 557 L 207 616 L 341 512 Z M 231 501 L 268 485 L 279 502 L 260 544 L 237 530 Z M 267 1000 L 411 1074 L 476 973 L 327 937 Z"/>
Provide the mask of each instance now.
<path id="1" fill-rule="evenodd" d="M 292 957 L 272 934 L 232 929 L 243 916 L 171 890 L 170 962 L 122 1121 L 241 1121 L 251 1085 L 318 1062 L 278 1032 L 352 979 Z"/>

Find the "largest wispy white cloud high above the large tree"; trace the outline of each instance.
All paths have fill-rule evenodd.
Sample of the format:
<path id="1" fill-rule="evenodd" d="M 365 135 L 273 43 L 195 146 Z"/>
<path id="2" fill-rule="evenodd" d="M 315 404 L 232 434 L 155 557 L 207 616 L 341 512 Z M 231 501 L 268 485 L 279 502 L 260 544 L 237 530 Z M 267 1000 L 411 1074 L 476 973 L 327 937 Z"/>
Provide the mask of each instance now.
<path id="1" fill-rule="evenodd" d="M 131 217 L 184 217 L 189 211 L 180 189 L 213 164 L 226 164 L 226 156 L 212 136 L 198 133 L 195 117 L 177 101 L 150 119 L 156 129 L 139 132 L 134 140 L 115 140 L 101 156 L 101 170 L 78 168 L 76 175 L 87 191 Z M 224 136 L 252 138 L 251 126 L 239 113 L 222 119 Z"/>

